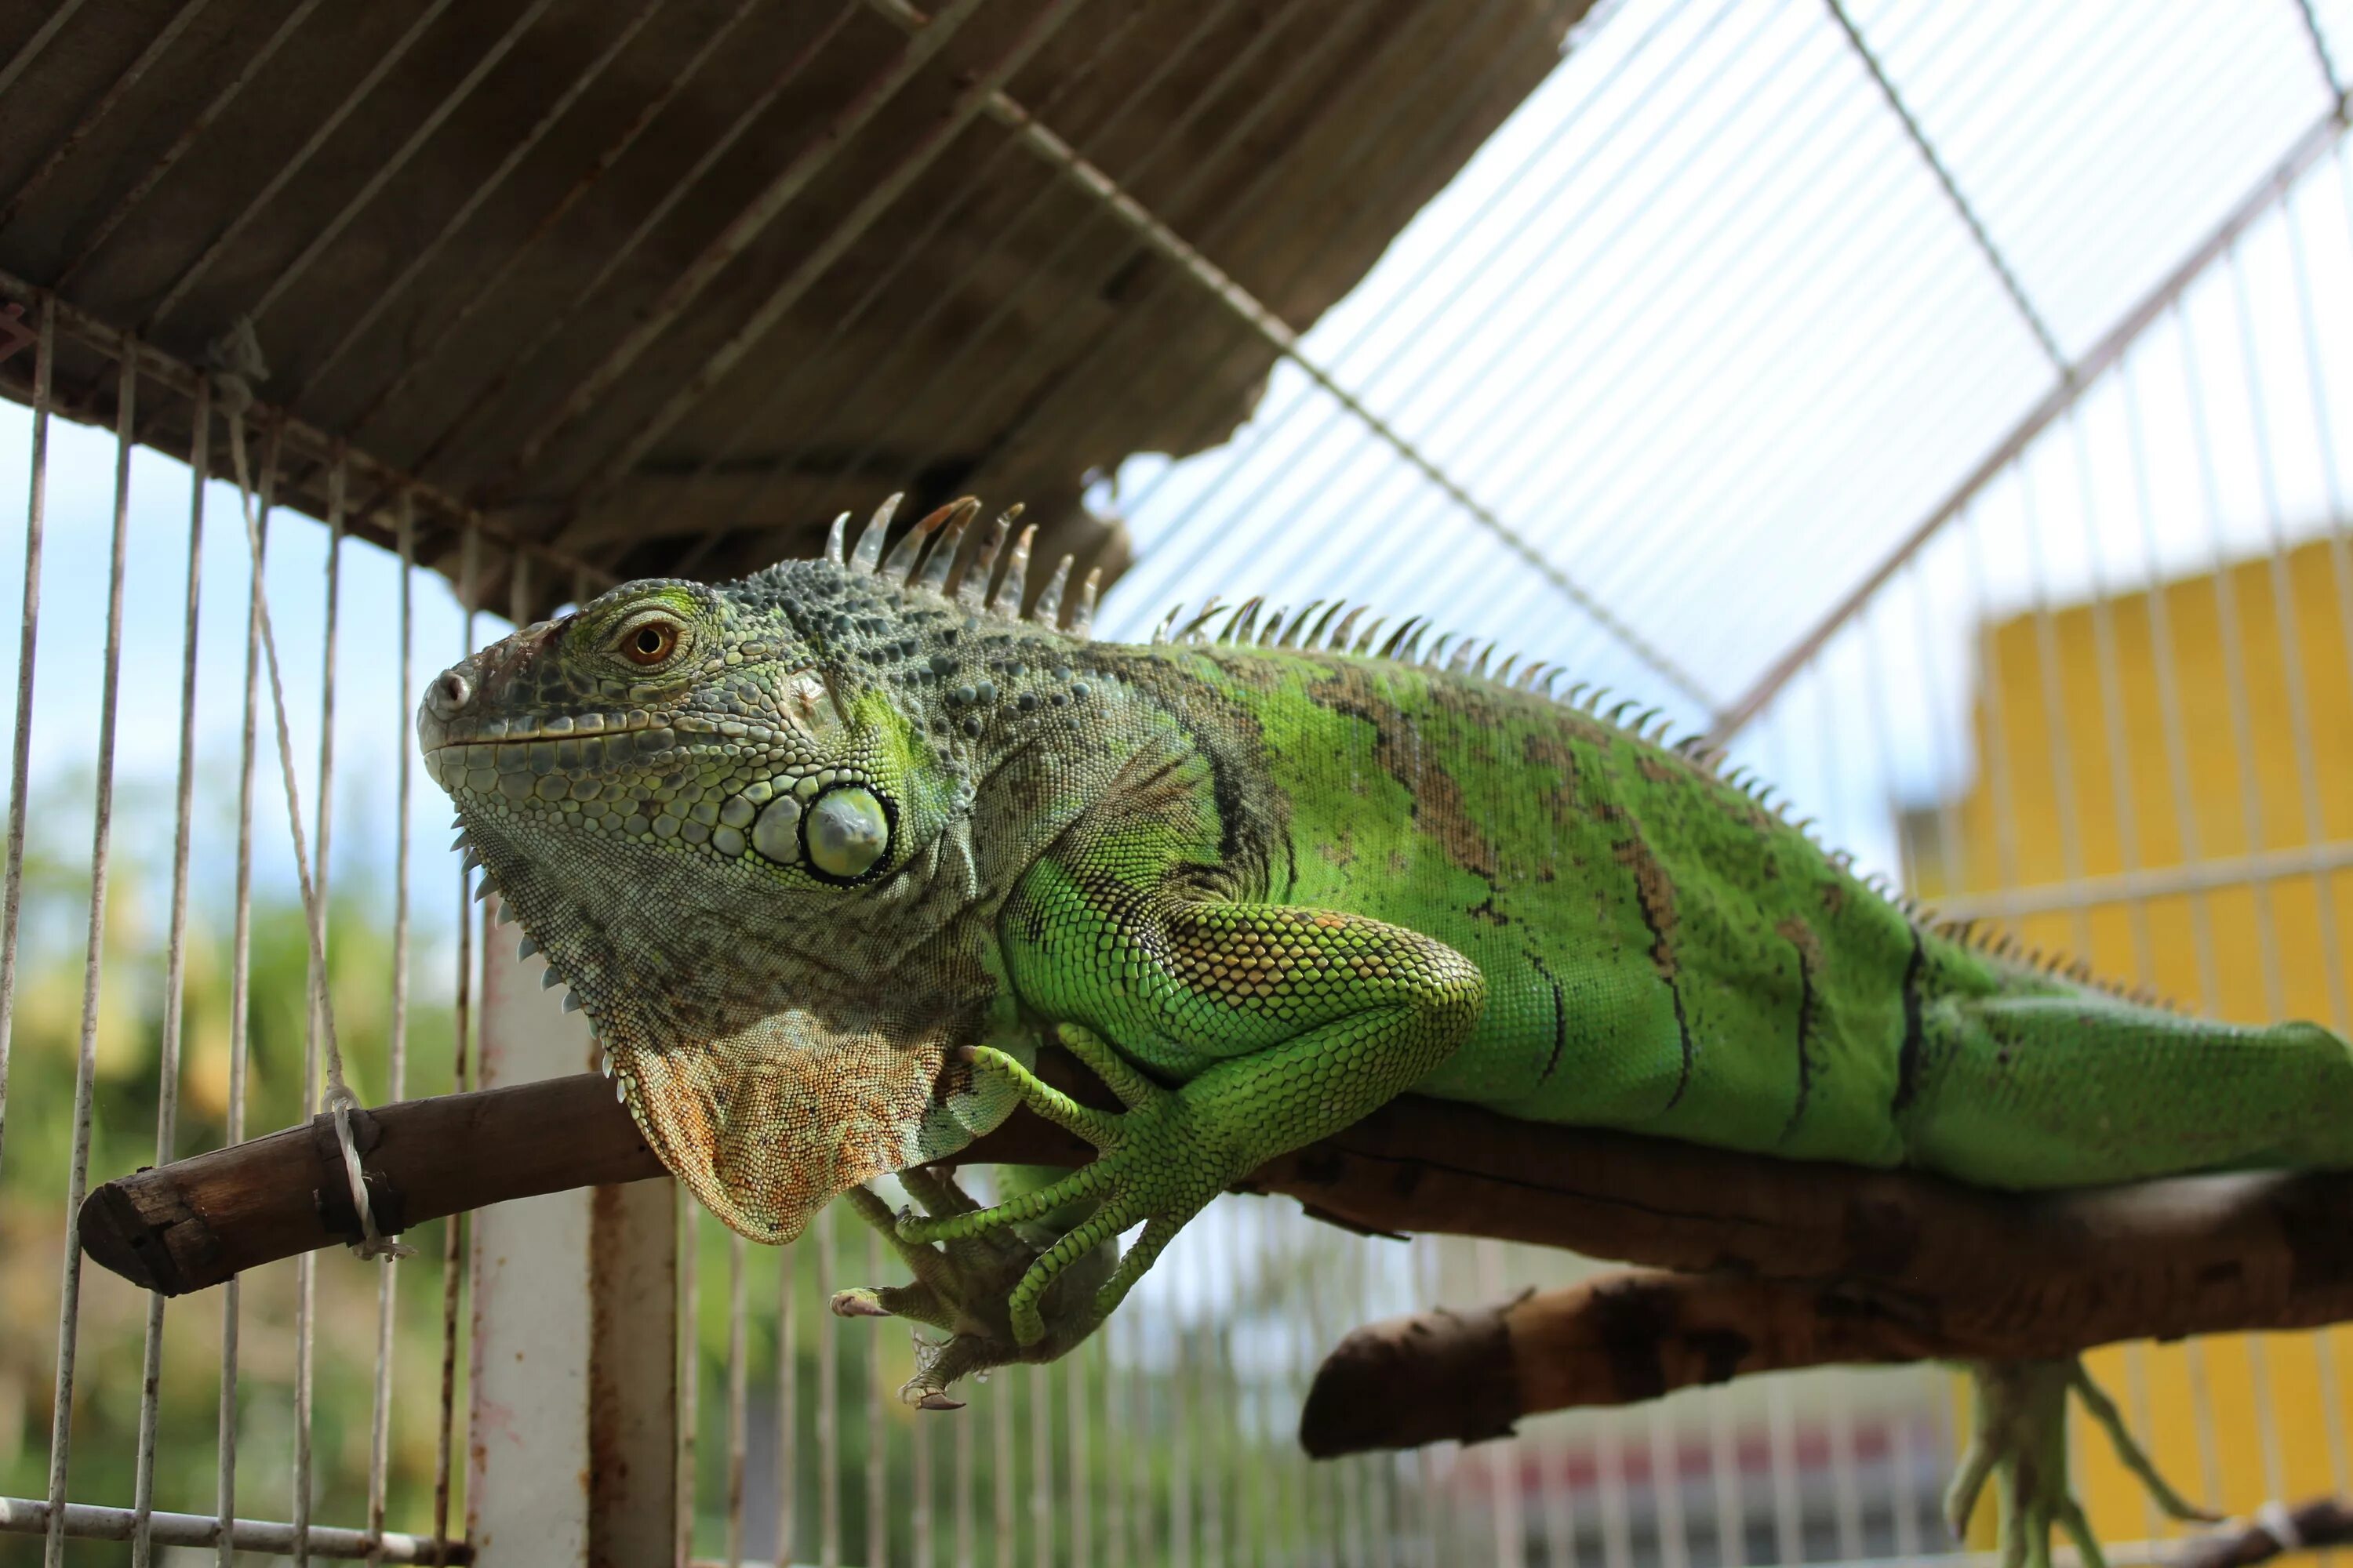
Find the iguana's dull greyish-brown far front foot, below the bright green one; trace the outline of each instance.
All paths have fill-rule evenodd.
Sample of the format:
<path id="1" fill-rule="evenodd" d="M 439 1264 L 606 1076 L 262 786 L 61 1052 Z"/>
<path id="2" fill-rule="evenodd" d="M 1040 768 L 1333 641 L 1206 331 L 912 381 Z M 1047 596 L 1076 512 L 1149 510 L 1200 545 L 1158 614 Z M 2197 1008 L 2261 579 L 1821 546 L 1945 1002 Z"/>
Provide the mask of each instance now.
<path id="1" fill-rule="evenodd" d="M 984 1213 L 944 1171 L 918 1166 L 901 1171 L 899 1182 L 934 1218 Z M 904 1316 L 946 1335 L 915 1335 L 915 1375 L 899 1389 L 899 1399 L 918 1410 L 958 1410 L 962 1401 L 948 1396 L 948 1389 L 962 1378 L 1016 1361 L 1052 1361 L 1101 1321 L 1094 1291 L 1111 1274 L 1111 1248 L 1080 1258 L 1059 1288 L 1038 1302 L 1042 1331 L 1033 1340 L 1019 1340 L 1009 1321 L 1012 1295 L 1038 1255 L 1054 1246 L 1054 1232 L 1024 1225 L 927 1246 L 906 1241 L 899 1234 L 901 1215 L 866 1187 L 852 1187 L 845 1197 L 859 1218 L 889 1237 L 915 1279 L 906 1286 L 838 1291 L 831 1302 L 835 1316 Z"/>

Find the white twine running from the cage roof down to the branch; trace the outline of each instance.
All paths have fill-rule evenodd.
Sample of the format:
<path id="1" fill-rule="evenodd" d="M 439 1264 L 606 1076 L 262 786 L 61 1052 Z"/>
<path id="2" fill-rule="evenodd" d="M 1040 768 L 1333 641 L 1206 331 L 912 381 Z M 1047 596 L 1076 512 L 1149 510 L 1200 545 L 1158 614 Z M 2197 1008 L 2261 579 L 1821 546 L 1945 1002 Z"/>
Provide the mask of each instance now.
<path id="1" fill-rule="evenodd" d="M 360 1258 L 414 1258 L 416 1248 L 393 1241 L 376 1229 L 376 1211 L 367 1201 L 367 1173 L 360 1168 L 360 1145 L 351 1135 L 351 1112 L 360 1110 L 360 1095 L 351 1093 L 344 1079 L 344 1048 L 334 1037 L 334 997 L 327 987 L 327 912 L 320 907 L 318 886 L 311 882 L 311 846 L 301 830 L 301 785 L 294 778 L 294 733 L 287 726 L 287 691 L 278 675 L 278 637 L 271 630 L 271 599 L 261 583 L 261 515 L 254 505 L 254 480 L 245 458 L 245 411 L 254 404 L 254 381 L 268 381 L 268 364 L 261 357 L 261 341 L 254 322 L 240 317 L 207 353 L 212 364 L 214 397 L 228 414 L 228 458 L 238 475 L 238 503 L 245 515 L 245 545 L 254 559 L 254 625 L 261 632 L 261 656 L 271 672 L 271 717 L 278 724 L 278 773 L 287 790 L 287 825 L 294 832 L 294 875 L 301 879 L 304 929 L 311 938 L 311 1006 L 318 1009 L 318 1034 L 325 1046 L 327 1100 L 334 1117 L 334 1140 L 344 1150 L 344 1178 L 351 1182 L 351 1206 L 360 1215 L 360 1239 L 351 1251 Z"/>

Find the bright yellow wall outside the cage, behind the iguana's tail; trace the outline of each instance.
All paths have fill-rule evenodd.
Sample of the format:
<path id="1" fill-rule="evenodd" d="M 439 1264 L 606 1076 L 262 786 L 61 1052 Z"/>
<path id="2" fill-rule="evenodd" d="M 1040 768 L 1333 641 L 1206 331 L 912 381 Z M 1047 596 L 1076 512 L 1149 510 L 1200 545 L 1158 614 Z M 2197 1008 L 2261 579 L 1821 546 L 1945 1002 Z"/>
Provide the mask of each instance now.
<path id="1" fill-rule="evenodd" d="M 2219 578 L 2169 583 L 2158 602 L 2129 595 L 2111 599 L 2104 614 L 2073 604 L 1988 628 L 1974 712 L 1979 776 L 1944 813 L 1941 830 L 1922 818 L 1908 825 L 1915 886 L 1932 898 L 1965 898 L 2064 882 L 2071 872 L 2122 872 L 2132 830 L 2141 867 L 2306 846 L 2292 679 L 2304 684 L 2320 837 L 2353 842 L 2353 649 L 2339 616 L 2346 564 L 2313 543 L 2282 562 L 2266 557 Z M 2287 585 L 2285 621 L 2275 583 Z M 2104 642 L 2113 649 L 2106 677 Z M 2167 642 L 2186 790 L 2177 790 L 2167 757 L 2158 665 Z M 2233 684 L 2245 693 L 2242 722 L 2233 719 Z M 2238 745 L 2240 731 L 2252 736 L 2247 750 Z M 2259 825 L 2249 823 L 2242 788 L 2249 771 Z M 2195 856 L 2184 825 L 2195 835 Z M 1958 865 L 1960 877 L 1939 875 L 1944 865 Z M 2353 870 L 2334 872 L 2329 891 L 2334 943 L 2325 940 L 2325 900 L 2311 875 L 2278 879 L 2268 891 L 2242 882 L 2202 900 L 2153 898 L 2141 905 L 2139 936 L 2127 905 L 2026 917 L 2012 929 L 2031 945 L 2080 952 L 2099 973 L 2139 980 L 2191 1009 L 2247 1020 L 2318 1018 L 2346 1030 L 2348 1020 L 2337 1016 L 2341 992 L 2332 999 L 2332 966 L 2341 987 L 2353 969 Z M 2205 966 L 2202 929 L 2212 954 Z M 2271 978 L 2266 950 L 2275 961 Z M 2202 973 L 2214 978 L 2209 997 L 2200 994 Z M 2245 1514 L 2273 1495 L 2299 1500 L 2353 1481 L 2344 1439 L 2348 1328 L 2113 1347 L 2092 1356 L 2092 1371 L 2134 1427 L 2146 1406 L 2153 1453 L 2193 1500 Z M 2266 1401 L 2268 1436 L 2259 1420 Z M 2075 1446 L 2101 1537 L 2146 1537 L 2153 1516 L 2141 1488 L 2082 1422 Z M 1991 1507 L 1974 1533 L 1988 1530 Z"/>

